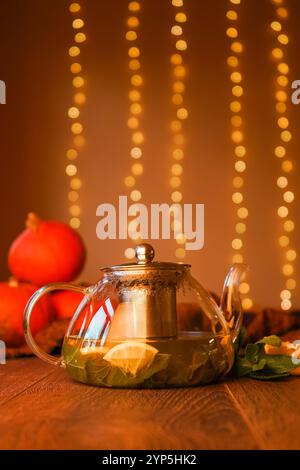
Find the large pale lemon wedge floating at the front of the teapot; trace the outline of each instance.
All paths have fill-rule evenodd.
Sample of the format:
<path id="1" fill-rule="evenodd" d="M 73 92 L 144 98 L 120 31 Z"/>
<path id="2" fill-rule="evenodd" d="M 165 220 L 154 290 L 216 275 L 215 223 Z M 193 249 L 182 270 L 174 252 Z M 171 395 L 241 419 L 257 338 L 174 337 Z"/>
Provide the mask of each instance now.
<path id="1" fill-rule="evenodd" d="M 136 375 L 144 367 L 149 367 L 158 349 L 146 343 L 128 341 L 114 346 L 103 359 L 112 366 L 119 367 L 126 374 Z"/>

